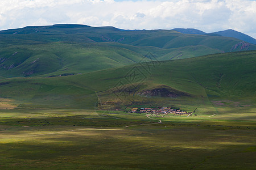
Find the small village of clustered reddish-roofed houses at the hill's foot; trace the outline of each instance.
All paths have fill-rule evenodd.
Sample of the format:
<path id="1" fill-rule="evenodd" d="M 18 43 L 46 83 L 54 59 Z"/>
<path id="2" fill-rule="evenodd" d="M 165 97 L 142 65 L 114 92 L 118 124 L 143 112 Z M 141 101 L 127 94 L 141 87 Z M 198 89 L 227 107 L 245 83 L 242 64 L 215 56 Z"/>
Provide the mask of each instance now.
<path id="1" fill-rule="evenodd" d="M 131 108 L 130 113 L 146 113 L 152 114 L 152 116 L 164 116 L 166 114 L 174 114 L 174 115 L 191 115 L 192 112 L 181 111 L 180 108 L 174 109 L 171 107 L 156 107 L 156 108 Z"/>

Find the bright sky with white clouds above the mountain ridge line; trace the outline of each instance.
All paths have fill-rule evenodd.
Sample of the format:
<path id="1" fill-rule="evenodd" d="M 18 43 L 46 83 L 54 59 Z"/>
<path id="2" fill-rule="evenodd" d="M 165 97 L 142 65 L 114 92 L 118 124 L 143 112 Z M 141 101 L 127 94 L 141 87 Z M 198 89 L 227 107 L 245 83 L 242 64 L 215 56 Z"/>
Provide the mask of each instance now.
<path id="1" fill-rule="evenodd" d="M 0 30 L 85 24 L 122 29 L 234 29 L 256 39 L 256 0 L 0 0 Z"/>

